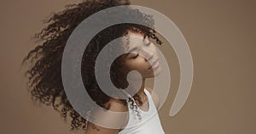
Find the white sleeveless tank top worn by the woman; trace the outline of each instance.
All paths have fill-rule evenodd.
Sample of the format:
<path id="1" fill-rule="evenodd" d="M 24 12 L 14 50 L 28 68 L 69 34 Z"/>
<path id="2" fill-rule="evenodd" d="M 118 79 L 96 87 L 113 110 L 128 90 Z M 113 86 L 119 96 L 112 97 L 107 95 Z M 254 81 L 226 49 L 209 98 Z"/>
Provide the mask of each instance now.
<path id="1" fill-rule="evenodd" d="M 137 106 L 137 110 L 141 114 L 141 119 L 139 119 L 137 112 L 130 108 L 130 103 L 127 103 L 129 109 L 129 121 L 128 124 L 125 126 L 125 129 L 119 131 L 119 134 L 165 134 L 165 131 L 161 126 L 160 118 L 157 109 L 154 106 L 154 101 L 151 98 L 150 92 L 148 92 L 148 90 L 146 89 L 144 89 L 144 92 L 148 97 L 148 111 L 143 111 Z M 126 94 L 131 97 L 130 94 Z M 136 103 L 134 104 L 137 105 Z"/>

